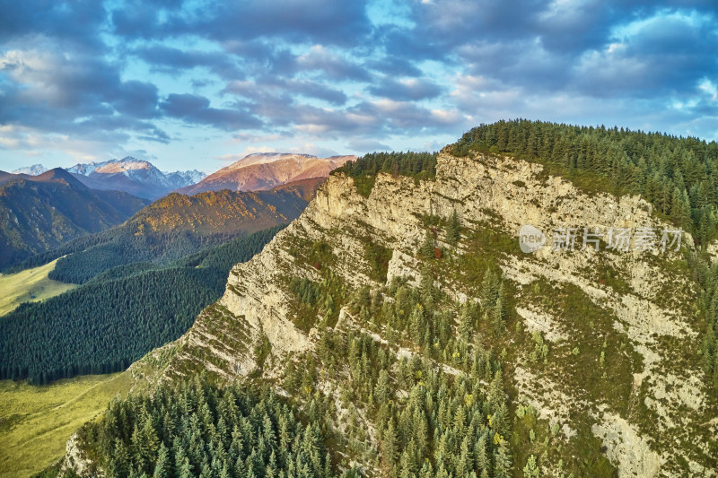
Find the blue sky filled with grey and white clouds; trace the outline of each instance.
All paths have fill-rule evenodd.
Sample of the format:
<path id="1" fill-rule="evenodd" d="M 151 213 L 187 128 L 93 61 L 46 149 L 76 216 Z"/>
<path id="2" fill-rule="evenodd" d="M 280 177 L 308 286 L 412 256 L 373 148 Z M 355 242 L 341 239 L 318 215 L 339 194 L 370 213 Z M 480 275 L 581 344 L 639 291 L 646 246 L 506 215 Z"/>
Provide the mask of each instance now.
<path id="1" fill-rule="evenodd" d="M 525 117 L 718 139 L 714 0 L 0 0 L 0 169 L 436 151 Z"/>

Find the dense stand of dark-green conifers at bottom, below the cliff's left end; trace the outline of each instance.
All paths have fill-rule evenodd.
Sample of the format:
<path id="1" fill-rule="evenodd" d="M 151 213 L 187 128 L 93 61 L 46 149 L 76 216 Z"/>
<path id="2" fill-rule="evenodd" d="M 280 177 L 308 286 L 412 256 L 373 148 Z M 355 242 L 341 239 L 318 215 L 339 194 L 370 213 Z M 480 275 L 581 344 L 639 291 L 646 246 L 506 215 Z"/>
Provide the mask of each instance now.
<path id="1" fill-rule="evenodd" d="M 267 388 L 196 378 L 112 402 L 81 437 L 109 476 L 324 478 L 334 475 L 326 411 L 301 416 Z"/>

